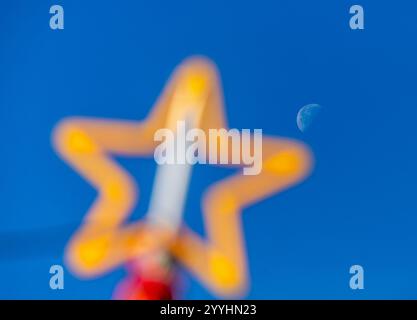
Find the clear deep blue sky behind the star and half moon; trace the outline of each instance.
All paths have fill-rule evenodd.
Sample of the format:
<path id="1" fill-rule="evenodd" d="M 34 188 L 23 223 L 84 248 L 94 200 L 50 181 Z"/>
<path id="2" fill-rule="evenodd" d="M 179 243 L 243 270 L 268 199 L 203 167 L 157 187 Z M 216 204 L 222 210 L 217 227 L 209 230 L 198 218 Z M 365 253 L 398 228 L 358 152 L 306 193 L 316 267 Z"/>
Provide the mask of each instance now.
<path id="1" fill-rule="evenodd" d="M 365 8 L 365 30 L 349 7 Z M 49 28 L 61 4 L 65 30 Z M 0 4 L 0 298 L 109 298 L 123 268 L 90 281 L 49 267 L 95 197 L 53 152 L 71 115 L 142 119 L 173 68 L 218 65 L 229 124 L 308 144 L 302 184 L 243 214 L 248 298 L 417 298 L 417 3 L 415 1 L 21 1 Z M 296 114 L 323 111 L 306 133 Z M 152 160 L 118 159 L 149 200 Z M 186 210 L 231 170 L 198 166 Z M 39 230 L 45 230 L 39 232 Z M 365 290 L 349 288 L 349 267 Z M 186 272 L 183 298 L 213 298 Z"/>

